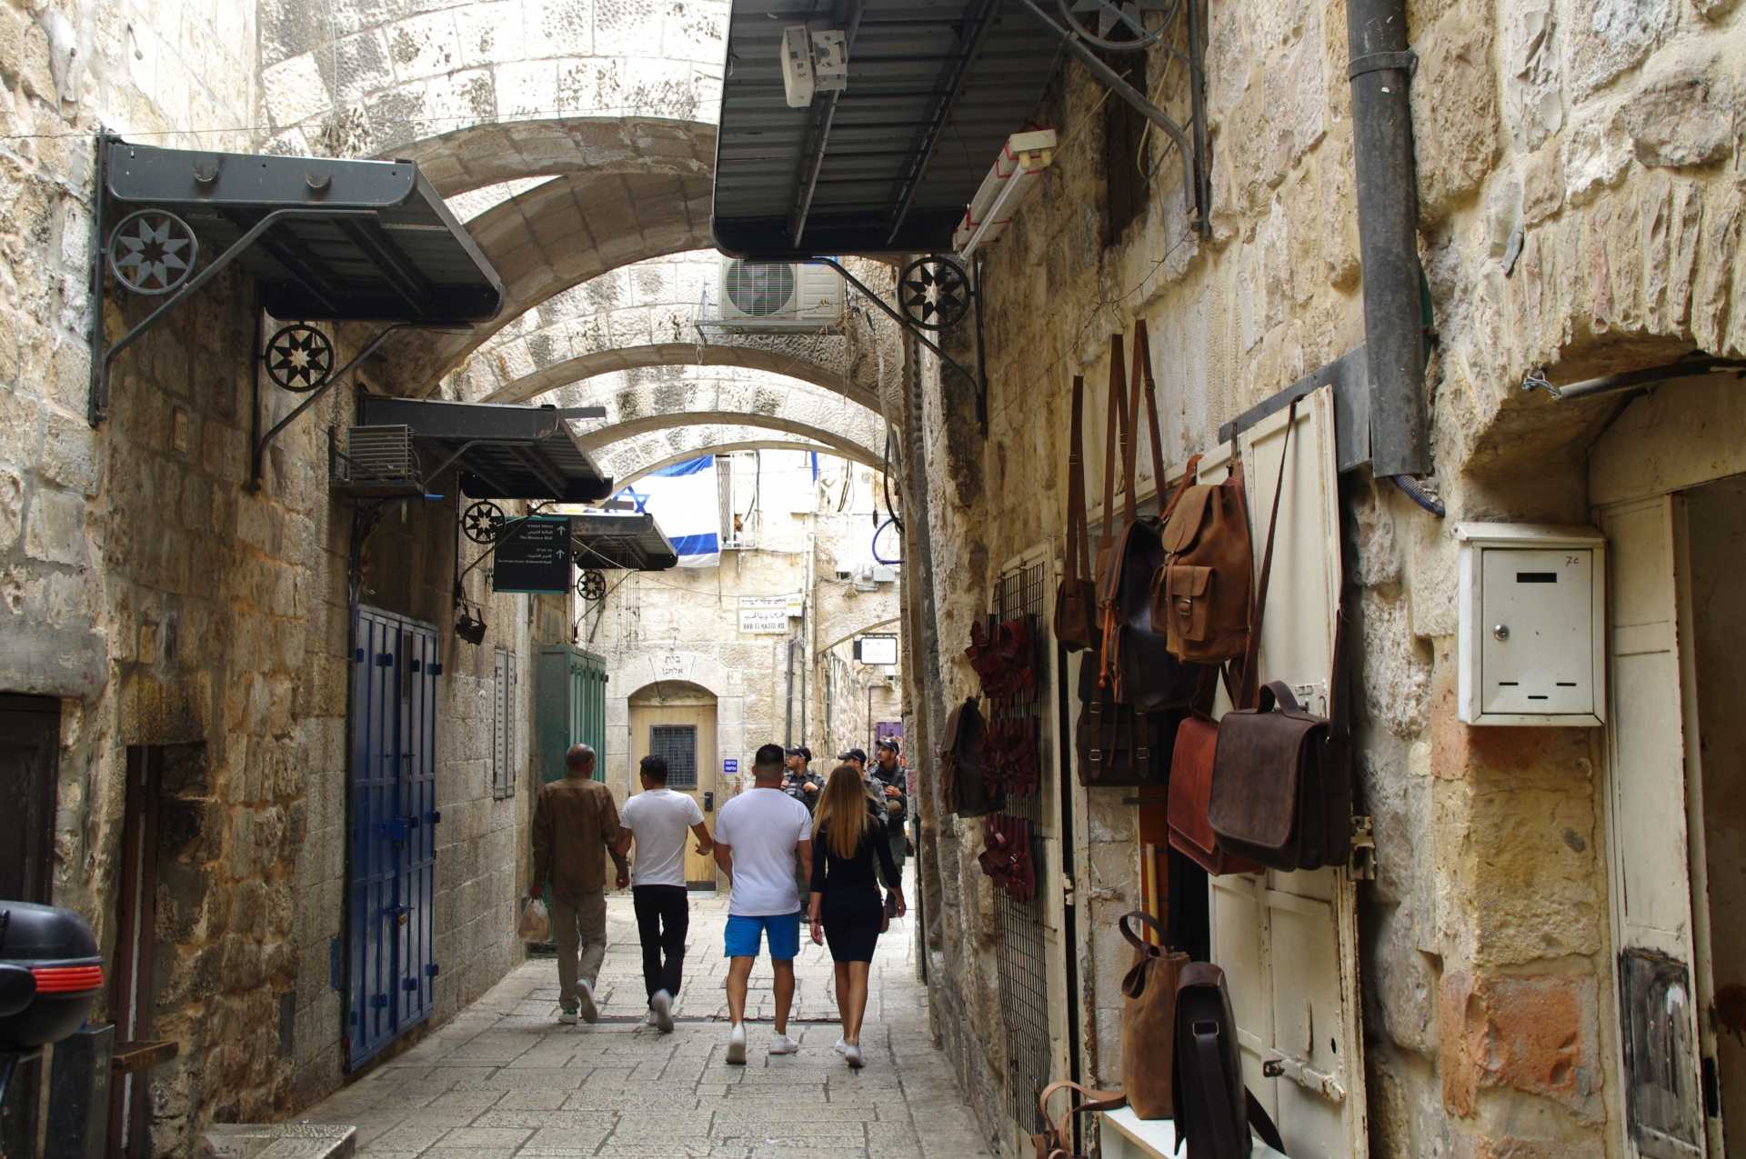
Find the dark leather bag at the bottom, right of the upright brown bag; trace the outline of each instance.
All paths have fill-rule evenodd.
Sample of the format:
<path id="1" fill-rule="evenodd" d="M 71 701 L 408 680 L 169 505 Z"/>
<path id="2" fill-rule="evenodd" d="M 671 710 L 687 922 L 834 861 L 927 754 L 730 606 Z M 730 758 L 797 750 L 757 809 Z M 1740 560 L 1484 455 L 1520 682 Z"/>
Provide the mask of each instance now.
<path id="1" fill-rule="evenodd" d="M 1236 1049 L 1236 1016 L 1224 970 L 1191 962 L 1177 983 L 1175 1126 L 1187 1159 L 1243 1159 L 1252 1150 L 1248 1128 L 1283 1154 L 1285 1143 L 1266 1108 L 1243 1086 Z"/>

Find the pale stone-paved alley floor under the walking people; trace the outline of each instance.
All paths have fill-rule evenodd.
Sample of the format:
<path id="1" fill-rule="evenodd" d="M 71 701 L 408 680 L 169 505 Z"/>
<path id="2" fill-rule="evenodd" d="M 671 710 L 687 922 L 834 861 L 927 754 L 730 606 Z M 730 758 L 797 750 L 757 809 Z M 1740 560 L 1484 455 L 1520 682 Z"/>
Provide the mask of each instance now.
<path id="1" fill-rule="evenodd" d="M 725 895 L 693 895 L 670 1035 L 643 1026 L 636 918 L 630 895 L 615 894 L 599 1023 L 555 1021 L 557 967 L 536 958 L 304 1119 L 356 1124 L 360 1154 L 409 1159 L 990 1156 L 929 1039 L 913 915 L 880 939 L 861 1033 L 868 1066 L 859 1073 L 833 1049 L 840 1028 L 829 955 L 805 937 L 789 1025 L 800 1054 L 770 1058 L 765 1021 L 747 1026 L 747 1065 L 726 1065 L 725 918 Z M 749 1019 L 770 1018 L 770 962 L 760 958 Z"/>

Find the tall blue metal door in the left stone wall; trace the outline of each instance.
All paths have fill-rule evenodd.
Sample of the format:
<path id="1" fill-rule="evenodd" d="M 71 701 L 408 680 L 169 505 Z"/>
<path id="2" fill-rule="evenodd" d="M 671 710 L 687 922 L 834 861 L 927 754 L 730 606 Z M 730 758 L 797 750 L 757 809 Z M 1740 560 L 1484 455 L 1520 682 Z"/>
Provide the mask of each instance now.
<path id="1" fill-rule="evenodd" d="M 430 1014 L 436 871 L 436 630 L 374 607 L 353 625 L 347 1066 Z"/>

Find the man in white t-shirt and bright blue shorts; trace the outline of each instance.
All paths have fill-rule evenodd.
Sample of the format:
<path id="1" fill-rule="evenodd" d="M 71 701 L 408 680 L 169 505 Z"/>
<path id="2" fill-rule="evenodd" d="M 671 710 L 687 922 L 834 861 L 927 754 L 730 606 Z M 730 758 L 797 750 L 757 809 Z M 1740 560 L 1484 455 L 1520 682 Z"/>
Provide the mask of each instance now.
<path id="1" fill-rule="evenodd" d="M 753 787 L 716 815 L 716 864 L 728 874 L 726 957 L 728 1063 L 746 1065 L 746 984 L 758 944 L 770 939 L 775 970 L 775 1040 L 772 1054 L 794 1054 L 787 1011 L 794 1004 L 794 957 L 800 953 L 800 878 L 812 876 L 812 815 L 782 792 L 782 745 L 765 745 L 753 759 Z"/>

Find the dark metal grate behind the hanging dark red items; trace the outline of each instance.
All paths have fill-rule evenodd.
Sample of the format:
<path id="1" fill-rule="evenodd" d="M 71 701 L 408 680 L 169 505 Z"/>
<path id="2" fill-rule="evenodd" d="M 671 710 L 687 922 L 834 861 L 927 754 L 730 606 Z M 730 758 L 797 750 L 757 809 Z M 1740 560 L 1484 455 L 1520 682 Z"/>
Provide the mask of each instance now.
<path id="1" fill-rule="evenodd" d="M 1044 689 L 1048 688 L 1049 665 L 1042 649 L 1042 586 L 1044 564 L 1016 567 L 1000 576 L 995 583 L 993 614 L 995 621 L 1030 620 L 1032 641 L 1035 641 L 1037 691 L 1028 703 L 999 702 L 997 719 L 1007 714 L 1041 714 Z M 1037 836 L 1042 824 L 1042 794 L 1053 784 L 1049 759 L 1053 745 L 1048 740 L 1039 744 L 1037 759 L 1041 777 L 1037 792 L 1007 794 L 1002 815 L 1016 817 L 1028 824 L 1030 857 L 1037 868 L 1037 895 L 1032 901 L 1016 901 L 1006 890 L 995 890 L 995 916 L 1000 925 L 1000 948 L 995 967 L 1000 983 L 1000 1018 L 1006 1023 L 1007 1073 L 1007 1112 L 1018 1122 L 1032 1122 L 1042 1129 L 1037 1115 L 1037 1094 L 1055 1077 L 1053 1053 L 1049 1049 L 1049 965 L 1042 943 L 1042 883 L 1044 850 Z"/>

